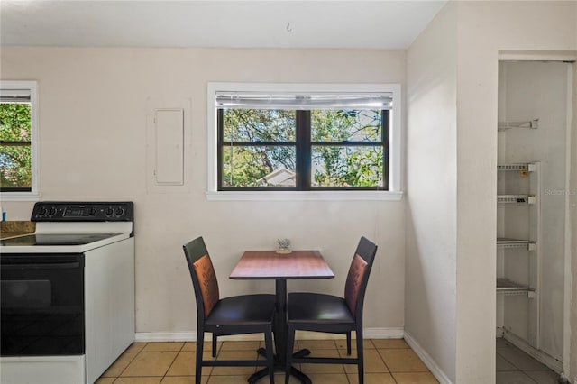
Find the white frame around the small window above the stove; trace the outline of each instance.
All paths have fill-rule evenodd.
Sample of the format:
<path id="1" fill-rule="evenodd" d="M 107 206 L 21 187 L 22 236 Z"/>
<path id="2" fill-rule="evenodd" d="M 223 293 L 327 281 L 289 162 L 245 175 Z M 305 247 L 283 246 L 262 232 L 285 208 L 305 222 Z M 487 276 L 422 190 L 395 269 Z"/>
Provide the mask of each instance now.
<path id="1" fill-rule="evenodd" d="M 0 80 L 0 89 L 29 90 L 31 118 L 32 190 L 30 192 L 0 192 L 2 201 L 40 200 L 40 172 L 38 160 L 38 83 L 36 81 Z"/>

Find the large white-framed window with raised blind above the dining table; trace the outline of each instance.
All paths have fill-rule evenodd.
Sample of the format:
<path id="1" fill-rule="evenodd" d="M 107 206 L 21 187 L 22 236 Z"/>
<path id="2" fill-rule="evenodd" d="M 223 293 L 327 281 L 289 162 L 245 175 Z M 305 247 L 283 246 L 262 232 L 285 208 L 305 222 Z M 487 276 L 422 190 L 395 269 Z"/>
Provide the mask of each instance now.
<path id="1" fill-rule="evenodd" d="M 208 192 L 398 192 L 398 85 L 208 85 Z M 394 108 L 394 110 L 393 110 Z"/>

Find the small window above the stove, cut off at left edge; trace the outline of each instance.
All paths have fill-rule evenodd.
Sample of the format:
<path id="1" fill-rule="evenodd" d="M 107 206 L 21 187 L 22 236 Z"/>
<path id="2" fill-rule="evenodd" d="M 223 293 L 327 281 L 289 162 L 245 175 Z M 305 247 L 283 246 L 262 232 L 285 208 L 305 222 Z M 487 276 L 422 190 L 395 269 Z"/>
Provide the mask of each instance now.
<path id="1" fill-rule="evenodd" d="M 36 199 L 36 83 L 0 82 L 0 192 L 5 200 Z"/>

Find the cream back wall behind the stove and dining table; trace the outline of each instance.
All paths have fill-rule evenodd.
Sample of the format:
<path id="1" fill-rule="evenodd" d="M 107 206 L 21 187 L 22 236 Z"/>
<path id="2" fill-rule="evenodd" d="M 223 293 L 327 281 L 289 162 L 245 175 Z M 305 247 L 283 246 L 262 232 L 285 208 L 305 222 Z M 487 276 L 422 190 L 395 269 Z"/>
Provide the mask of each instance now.
<path id="1" fill-rule="evenodd" d="M 380 245 L 365 302 L 368 335 L 402 333 L 404 201 L 208 202 L 205 191 L 207 82 L 404 84 L 404 51 L 3 47 L 0 64 L 3 79 L 38 80 L 41 198 L 134 201 L 138 333 L 181 337 L 196 329 L 181 247 L 198 235 L 228 296 L 274 290 L 272 281 L 228 275 L 243 250 L 271 249 L 279 236 L 321 250 L 336 275 L 291 281 L 289 290 L 342 295 L 362 234 Z M 185 185 L 151 188 L 147 114 L 154 105 L 187 104 Z M 3 208 L 9 220 L 28 220 L 32 203 Z"/>

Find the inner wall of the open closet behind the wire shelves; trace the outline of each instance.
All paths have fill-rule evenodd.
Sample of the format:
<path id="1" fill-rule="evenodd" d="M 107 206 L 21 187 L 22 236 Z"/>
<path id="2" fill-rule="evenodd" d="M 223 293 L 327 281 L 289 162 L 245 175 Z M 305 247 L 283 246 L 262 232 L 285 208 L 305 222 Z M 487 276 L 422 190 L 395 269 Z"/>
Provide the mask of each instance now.
<path id="1" fill-rule="evenodd" d="M 540 170 L 527 181 L 517 181 L 517 187 L 522 187 L 529 178 L 538 179 L 534 191 L 538 212 L 511 215 L 498 208 L 501 235 L 523 236 L 523 231 L 533 228 L 530 235 L 537 241 L 536 251 L 498 249 L 498 277 L 503 273 L 527 275 L 536 288 L 534 298 L 497 297 L 498 335 L 504 333 L 556 361 L 563 361 L 564 268 L 570 241 L 566 231 L 570 71 L 572 64 L 563 62 L 499 63 L 499 122 L 538 119 L 538 126 L 499 131 L 498 162 L 539 162 Z"/>

